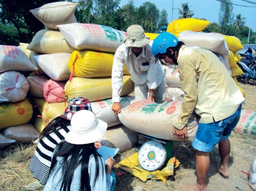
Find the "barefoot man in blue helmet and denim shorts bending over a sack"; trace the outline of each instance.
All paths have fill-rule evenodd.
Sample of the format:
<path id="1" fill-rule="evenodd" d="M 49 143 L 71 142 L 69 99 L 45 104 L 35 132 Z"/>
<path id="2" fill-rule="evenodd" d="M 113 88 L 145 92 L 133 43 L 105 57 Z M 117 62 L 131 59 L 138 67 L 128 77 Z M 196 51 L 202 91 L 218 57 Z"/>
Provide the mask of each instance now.
<path id="1" fill-rule="evenodd" d="M 171 33 L 159 34 L 152 53 L 171 65 L 178 65 L 181 88 L 185 95 L 179 117 L 173 122 L 173 134 L 186 139 L 188 119 L 198 115 L 198 130 L 192 142 L 196 155 L 196 184 L 183 190 L 206 190 L 210 166 L 209 152 L 218 144 L 221 164 L 218 172 L 228 178 L 230 136 L 237 125 L 244 97 L 227 68 L 211 51 L 186 47 Z"/>

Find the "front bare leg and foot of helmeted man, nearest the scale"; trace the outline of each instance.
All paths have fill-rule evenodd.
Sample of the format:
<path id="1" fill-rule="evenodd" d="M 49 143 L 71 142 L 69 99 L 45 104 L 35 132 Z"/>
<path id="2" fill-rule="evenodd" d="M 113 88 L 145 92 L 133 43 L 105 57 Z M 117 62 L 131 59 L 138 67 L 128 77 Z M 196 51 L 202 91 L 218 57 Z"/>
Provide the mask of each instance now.
<path id="1" fill-rule="evenodd" d="M 195 185 L 181 185 L 180 188 L 186 191 L 206 191 L 207 190 L 207 176 L 210 167 L 209 153 L 195 150 L 196 154 L 196 184 Z"/>

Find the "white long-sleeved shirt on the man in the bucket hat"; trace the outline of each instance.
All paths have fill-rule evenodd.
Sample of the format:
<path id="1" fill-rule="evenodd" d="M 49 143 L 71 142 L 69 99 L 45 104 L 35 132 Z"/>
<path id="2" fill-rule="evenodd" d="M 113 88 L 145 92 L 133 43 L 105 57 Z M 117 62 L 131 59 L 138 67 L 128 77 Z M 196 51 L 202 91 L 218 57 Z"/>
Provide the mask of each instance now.
<path id="1" fill-rule="evenodd" d="M 162 65 L 159 60 L 156 61 L 149 44 L 143 47 L 140 55 L 136 57 L 131 47 L 126 47 L 123 43 L 116 49 L 113 61 L 111 77 L 113 102 L 120 102 L 124 63 L 132 81 L 138 85 L 146 85 L 148 89 L 156 89 L 164 78 Z"/>

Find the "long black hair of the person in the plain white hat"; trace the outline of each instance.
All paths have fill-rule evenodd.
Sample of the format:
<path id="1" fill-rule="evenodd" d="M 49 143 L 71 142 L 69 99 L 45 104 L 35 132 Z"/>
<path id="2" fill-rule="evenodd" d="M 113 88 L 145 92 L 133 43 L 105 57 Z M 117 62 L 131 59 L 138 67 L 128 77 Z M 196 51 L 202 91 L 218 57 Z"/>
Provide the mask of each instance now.
<path id="1" fill-rule="evenodd" d="M 90 187 L 90 174 L 88 173 L 88 164 L 90 155 L 93 155 L 95 158 L 96 169 L 95 169 L 95 177 L 94 178 L 94 185 L 99 178 L 99 169 L 100 165 L 104 166 L 102 160 L 100 159 L 99 153 L 95 149 L 94 142 L 90 144 L 70 144 L 66 141 L 60 142 L 56 147 L 56 152 L 52 157 L 52 164 L 51 170 L 54 169 L 56 165 L 56 158 L 63 157 L 63 162 L 61 162 L 61 166 L 56 169 L 55 172 L 62 170 L 62 182 L 60 190 L 67 190 L 70 191 L 70 186 L 72 183 L 72 179 L 74 178 L 74 171 L 76 168 L 81 165 L 81 180 L 80 180 L 80 190 L 91 190 Z M 105 168 L 104 168 L 105 172 Z"/>

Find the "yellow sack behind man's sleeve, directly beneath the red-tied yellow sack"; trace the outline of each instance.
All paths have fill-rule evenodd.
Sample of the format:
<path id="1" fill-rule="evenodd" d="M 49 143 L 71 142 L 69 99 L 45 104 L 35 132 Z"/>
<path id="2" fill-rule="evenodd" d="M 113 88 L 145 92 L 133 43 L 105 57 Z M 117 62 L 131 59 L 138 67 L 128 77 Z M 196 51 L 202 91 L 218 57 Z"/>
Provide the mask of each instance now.
<path id="1" fill-rule="evenodd" d="M 133 90 L 134 82 L 132 82 L 131 76 L 124 75 L 121 96 L 129 95 Z M 68 80 L 65 85 L 66 100 L 69 101 L 77 97 L 87 98 L 90 102 L 112 98 L 111 77 L 93 79 L 74 77 L 72 80 Z"/>

